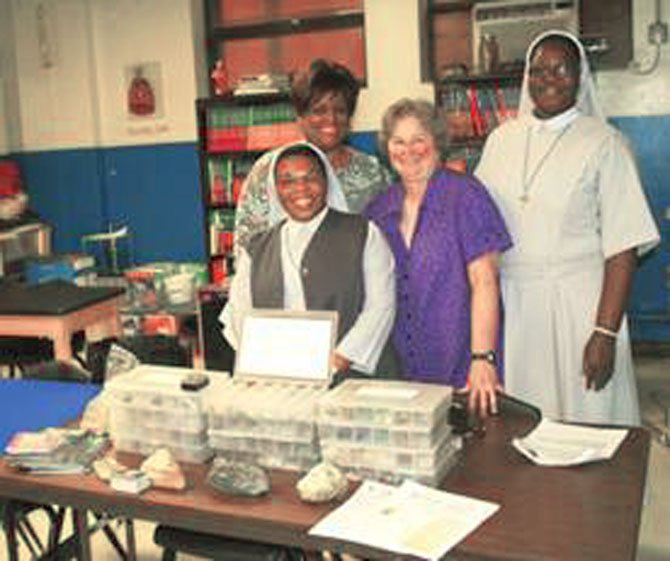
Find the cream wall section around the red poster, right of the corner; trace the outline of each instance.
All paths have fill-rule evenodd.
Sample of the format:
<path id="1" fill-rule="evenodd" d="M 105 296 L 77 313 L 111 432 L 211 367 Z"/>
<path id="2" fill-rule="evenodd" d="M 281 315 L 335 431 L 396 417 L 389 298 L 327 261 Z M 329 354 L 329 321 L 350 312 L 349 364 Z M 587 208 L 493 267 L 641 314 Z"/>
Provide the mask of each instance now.
<path id="1" fill-rule="evenodd" d="M 104 146 L 190 141 L 196 138 L 196 53 L 190 0 L 96 2 L 93 51 Z M 157 63 L 152 84 L 162 115 L 129 117 L 129 69 Z M 201 92 L 204 95 L 205 92 Z"/>

